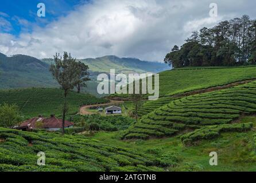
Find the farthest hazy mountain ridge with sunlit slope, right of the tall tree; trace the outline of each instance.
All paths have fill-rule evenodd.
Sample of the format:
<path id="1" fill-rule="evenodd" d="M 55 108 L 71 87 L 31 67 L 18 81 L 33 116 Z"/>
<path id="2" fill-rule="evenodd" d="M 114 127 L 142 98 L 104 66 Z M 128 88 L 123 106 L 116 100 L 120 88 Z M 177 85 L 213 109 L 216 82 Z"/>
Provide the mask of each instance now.
<path id="1" fill-rule="evenodd" d="M 99 58 L 86 58 L 78 59 L 86 63 L 92 72 L 110 72 L 110 69 L 115 69 L 117 73 L 159 73 L 164 70 L 170 69 L 168 65 L 160 62 L 141 61 L 138 58 L 119 58 L 115 55 L 108 55 Z M 42 59 L 45 63 L 52 63 L 52 58 Z"/>

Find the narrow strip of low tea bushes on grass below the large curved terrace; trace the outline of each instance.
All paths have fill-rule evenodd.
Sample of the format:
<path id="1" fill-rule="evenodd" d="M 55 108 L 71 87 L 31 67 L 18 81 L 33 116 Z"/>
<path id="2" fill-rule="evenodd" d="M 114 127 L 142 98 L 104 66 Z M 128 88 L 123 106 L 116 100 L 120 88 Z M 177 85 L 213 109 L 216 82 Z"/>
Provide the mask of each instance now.
<path id="1" fill-rule="evenodd" d="M 208 140 L 218 137 L 221 132 L 246 132 L 251 128 L 253 128 L 253 123 L 205 126 L 193 132 L 184 134 L 181 136 L 181 140 L 184 144 L 190 145 L 199 140 Z"/>

